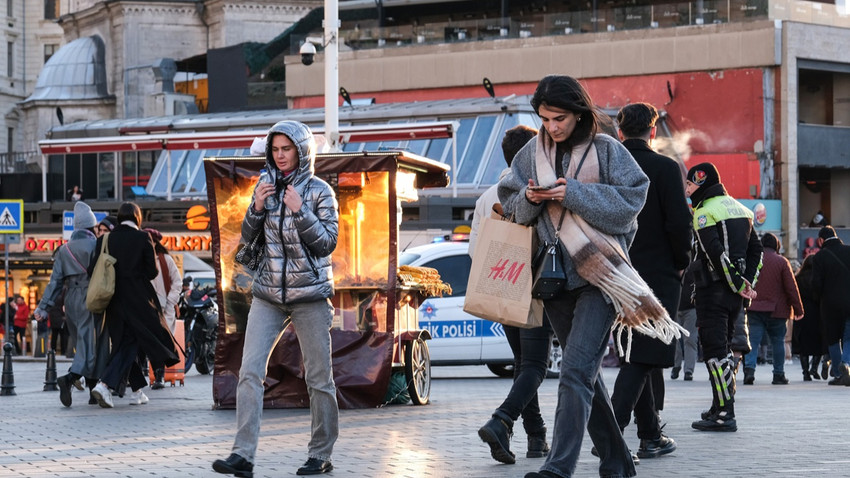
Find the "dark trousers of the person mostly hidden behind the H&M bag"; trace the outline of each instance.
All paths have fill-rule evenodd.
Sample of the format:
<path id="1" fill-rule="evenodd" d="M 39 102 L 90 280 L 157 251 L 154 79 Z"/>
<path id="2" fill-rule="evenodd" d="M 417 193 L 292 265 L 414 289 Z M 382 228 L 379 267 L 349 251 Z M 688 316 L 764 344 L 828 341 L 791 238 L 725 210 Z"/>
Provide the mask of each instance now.
<path id="1" fill-rule="evenodd" d="M 526 434 L 545 430 L 540 416 L 537 389 L 546 378 L 549 364 L 549 347 L 552 343 L 552 326 L 543 317 L 543 326 L 532 329 L 504 326 L 505 337 L 514 354 L 514 383 L 505 401 L 497 409 L 512 421 L 522 415 Z"/>

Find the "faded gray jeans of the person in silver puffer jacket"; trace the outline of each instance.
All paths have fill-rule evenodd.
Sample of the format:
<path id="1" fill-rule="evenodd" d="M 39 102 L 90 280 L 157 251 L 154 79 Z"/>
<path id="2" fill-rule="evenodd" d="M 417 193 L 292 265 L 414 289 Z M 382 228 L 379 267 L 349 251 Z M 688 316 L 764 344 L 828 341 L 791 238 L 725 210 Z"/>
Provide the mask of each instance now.
<path id="1" fill-rule="evenodd" d="M 269 355 L 280 340 L 286 319 L 298 334 L 304 361 L 304 379 L 310 396 L 312 433 L 307 456 L 330 460 L 339 435 L 339 407 L 331 368 L 333 306 L 328 300 L 278 305 L 254 298 L 248 312 L 242 367 L 236 388 L 236 439 L 233 453 L 254 462 L 263 413 L 263 380 Z"/>

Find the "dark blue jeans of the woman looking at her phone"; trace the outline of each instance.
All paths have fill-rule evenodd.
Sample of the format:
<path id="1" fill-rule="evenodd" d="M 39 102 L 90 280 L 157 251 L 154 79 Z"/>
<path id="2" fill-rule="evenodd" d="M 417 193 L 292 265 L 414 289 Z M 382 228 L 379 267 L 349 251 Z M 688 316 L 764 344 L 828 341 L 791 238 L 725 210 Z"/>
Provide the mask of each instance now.
<path id="1" fill-rule="evenodd" d="M 544 304 L 563 347 L 552 449 L 541 471 L 570 477 L 584 430 L 599 452 L 599 476 L 635 476 L 631 453 L 614 417 L 602 381 L 602 357 L 614 323 L 614 308 L 596 287 L 564 291 Z"/>

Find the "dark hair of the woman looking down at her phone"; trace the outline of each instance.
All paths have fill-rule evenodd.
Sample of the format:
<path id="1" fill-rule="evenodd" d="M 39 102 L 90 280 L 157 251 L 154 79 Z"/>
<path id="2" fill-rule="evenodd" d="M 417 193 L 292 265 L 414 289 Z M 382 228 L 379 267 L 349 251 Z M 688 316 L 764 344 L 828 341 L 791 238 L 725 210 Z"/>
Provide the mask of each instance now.
<path id="1" fill-rule="evenodd" d="M 566 141 L 569 146 L 590 139 L 599 131 L 600 124 L 606 123 L 606 119 L 607 123 L 611 123 L 611 119 L 593 105 L 593 100 L 584 87 L 571 76 L 547 75 L 537 83 L 537 89 L 531 97 L 531 107 L 539 114 L 543 105 L 581 115 L 581 120 L 576 123 L 573 133 Z"/>

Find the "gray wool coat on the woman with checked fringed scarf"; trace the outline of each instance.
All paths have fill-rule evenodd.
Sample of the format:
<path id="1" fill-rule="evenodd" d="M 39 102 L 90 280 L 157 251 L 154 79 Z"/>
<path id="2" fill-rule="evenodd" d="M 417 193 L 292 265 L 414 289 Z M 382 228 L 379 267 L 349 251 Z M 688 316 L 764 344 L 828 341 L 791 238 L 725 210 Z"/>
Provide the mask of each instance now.
<path id="1" fill-rule="evenodd" d="M 567 178 L 566 194 L 561 204 L 599 231 L 614 237 L 623 251 L 628 251 L 637 231 L 638 213 L 646 201 L 649 178 L 616 139 L 597 134 L 593 144 L 599 159 L 599 182 L 582 183 Z M 533 204 L 525 197 L 529 178 L 539 184 L 534 161 L 536 150 L 537 141 L 532 140 L 514 157 L 510 174 L 499 181 L 499 200 L 505 215 L 513 215 L 518 224 L 536 226 L 541 243 L 552 242 L 556 225 L 545 214 L 546 205 Z M 564 171 L 567 171 L 570 155 L 564 155 L 562 162 Z M 587 281 L 576 272 L 563 244 L 561 252 L 567 272 L 567 288 L 587 285 Z"/>

